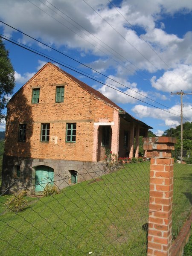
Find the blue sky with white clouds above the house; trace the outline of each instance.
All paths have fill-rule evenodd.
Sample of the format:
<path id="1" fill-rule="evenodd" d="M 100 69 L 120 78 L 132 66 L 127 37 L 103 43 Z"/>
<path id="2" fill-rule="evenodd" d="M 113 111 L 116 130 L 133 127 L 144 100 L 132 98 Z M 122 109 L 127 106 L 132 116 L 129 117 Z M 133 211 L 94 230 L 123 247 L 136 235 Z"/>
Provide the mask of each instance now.
<path id="1" fill-rule="evenodd" d="M 157 136 L 180 124 L 180 95 L 171 92 L 192 92 L 191 0 L 6 0 L 0 2 L 0 20 L 79 61 L 0 22 L 5 38 L 57 60 Z M 15 69 L 15 93 L 50 60 L 4 43 Z M 183 121 L 192 122 L 192 95 L 183 95 L 183 110 Z"/>

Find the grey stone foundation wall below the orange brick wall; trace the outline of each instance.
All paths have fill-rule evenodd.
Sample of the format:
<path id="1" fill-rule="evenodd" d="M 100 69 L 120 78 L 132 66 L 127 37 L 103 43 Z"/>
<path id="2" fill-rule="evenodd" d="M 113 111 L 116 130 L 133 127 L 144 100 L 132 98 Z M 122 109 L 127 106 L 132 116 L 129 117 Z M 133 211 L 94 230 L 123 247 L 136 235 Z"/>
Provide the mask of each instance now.
<path id="1" fill-rule="evenodd" d="M 101 162 L 69 161 L 27 157 L 3 157 L 2 190 L 27 187 L 28 194 L 35 192 L 35 167 L 49 166 L 54 169 L 54 183 L 59 189 L 70 185 L 71 174 L 77 172 L 77 183 L 107 174 L 106 165 Z M 17 177 L 20 166 L 20 177 Z M 16 181 L 16 182 L 14 182 Z"/>

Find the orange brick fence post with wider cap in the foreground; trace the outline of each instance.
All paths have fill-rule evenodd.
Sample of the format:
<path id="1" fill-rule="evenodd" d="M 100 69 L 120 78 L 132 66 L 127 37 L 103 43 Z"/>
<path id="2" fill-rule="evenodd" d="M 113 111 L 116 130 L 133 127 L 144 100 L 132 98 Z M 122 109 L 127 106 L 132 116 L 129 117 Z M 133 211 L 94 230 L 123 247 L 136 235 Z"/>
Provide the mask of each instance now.
<path id="1" fill-rule="evenodd" d="M 148 218 L 148 256 L 170 256 L 172 241 L 173 163 L 175 138 L 143 138 L 151 158 Z"/>

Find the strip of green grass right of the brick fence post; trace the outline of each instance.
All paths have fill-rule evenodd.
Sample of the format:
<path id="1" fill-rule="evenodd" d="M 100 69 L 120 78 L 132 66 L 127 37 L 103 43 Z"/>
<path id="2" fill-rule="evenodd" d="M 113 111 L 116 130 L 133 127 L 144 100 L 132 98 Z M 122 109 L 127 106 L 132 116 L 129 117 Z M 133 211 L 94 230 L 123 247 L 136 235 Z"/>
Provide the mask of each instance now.
<path id="1" fill-rule="evenodd" d="M 174 163 L 172 239 L 192 210 L 192 165 Z"/>

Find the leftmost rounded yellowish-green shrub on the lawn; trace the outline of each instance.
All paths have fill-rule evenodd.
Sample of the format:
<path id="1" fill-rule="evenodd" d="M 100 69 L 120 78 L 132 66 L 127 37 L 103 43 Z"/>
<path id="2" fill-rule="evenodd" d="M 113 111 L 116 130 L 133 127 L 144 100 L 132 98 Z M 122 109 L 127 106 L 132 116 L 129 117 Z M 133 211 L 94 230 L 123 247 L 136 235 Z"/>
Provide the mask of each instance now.
<path id="1" fill-rule="evenodd" d="M 28 201 L 24 198 L 26 195 L 25 190 L 20 190 L 18 194 L 12 195 L 6 201 L 6 206 L 11 212 L 22 211 L 26 206 Z"/>

